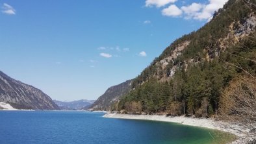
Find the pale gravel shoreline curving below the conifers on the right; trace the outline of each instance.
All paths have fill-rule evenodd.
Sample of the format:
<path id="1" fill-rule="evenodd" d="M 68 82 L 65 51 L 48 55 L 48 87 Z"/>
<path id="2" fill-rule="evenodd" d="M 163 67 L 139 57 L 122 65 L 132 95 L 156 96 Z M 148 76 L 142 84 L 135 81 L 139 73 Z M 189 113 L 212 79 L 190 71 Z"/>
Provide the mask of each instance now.
<path id="1" fill-rule="evenodd" d="M 213 130 L 221 130 L 237 136 L 237 139 L 235 141 L 232 141 L 231 143 L 244 143 L 244 141 L 251 140 L 250 136 L 248 136 L 249 130 L 242 128 L 242 126 L 230 125 L 229 123 L 224 123 L 222 121 L 214 121 L 214 119 L 211 118 L 205 119 L 185 116 L 116 114 L 110 112 L 103 115 L 103 117 L 113 119 L 163 121 L 169 123 L 179 123 L 181 125 L 198 126 L 201 128 L 209 128 Z"/>

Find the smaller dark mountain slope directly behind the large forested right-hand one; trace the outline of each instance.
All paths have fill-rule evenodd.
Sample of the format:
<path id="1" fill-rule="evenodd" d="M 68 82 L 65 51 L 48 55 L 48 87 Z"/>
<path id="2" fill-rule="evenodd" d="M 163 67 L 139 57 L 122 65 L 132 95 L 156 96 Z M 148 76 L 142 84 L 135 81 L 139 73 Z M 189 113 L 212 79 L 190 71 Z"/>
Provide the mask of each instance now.
<path id="1" fill-rule="evenodd" d="M 132 80 L 127 80 L 122 84 L 110 87 L 89 108 L 92 110 L 110 110 L 112 104 L 118 101 L 122 95 L 125 95 L 131 90 L 131 83 Z"/>

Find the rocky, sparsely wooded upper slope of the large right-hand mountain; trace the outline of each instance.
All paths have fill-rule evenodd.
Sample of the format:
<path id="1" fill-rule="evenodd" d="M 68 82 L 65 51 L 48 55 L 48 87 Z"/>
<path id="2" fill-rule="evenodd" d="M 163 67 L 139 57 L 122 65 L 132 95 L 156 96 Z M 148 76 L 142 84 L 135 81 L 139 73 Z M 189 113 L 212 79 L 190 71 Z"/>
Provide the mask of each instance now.
<path id="1" fill-rule="evenodd" d="M 238 47 L 244 40 L 254 38 L 255 8 L 255 1 L 229 0 L 201 29 L 182 36 L 166 47 L 139 77 L 134 78 L 133 88 L 150 78 L 166 82 L 177 70 L 211 62 L 226 53 L 227 48 Z"/>

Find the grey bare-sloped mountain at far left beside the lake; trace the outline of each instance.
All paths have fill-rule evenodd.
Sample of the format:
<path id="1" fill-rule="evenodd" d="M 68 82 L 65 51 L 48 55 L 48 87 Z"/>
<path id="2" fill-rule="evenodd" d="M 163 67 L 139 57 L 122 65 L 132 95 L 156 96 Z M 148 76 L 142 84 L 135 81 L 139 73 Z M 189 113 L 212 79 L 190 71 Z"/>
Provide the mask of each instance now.
<path id="1" fill-rule="evenodd" d="M 16 109 L 59 110 L 43 91 L 8 77 L 0 71 L 0 102 Z"/>

